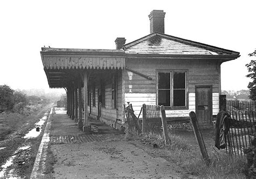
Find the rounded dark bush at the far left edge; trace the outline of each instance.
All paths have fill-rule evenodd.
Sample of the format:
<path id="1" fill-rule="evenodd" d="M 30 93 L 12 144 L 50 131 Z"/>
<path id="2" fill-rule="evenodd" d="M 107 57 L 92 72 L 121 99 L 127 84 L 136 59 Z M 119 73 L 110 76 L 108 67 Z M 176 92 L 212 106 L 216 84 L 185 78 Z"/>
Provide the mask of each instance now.
<path id="1" fill-rule="evenodd" d="M 14 107 L 14 89 L 0 85 L 0 112 L 9 111 Z"/>

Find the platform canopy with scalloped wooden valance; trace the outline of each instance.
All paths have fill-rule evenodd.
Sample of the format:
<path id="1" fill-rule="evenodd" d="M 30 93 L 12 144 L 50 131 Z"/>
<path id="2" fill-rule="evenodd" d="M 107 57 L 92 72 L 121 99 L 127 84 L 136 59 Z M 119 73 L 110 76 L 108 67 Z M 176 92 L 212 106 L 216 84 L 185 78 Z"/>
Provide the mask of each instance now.
<path id="1" fill-rule="evenodd" d="M 42 48 L 41 58 L 51 88 L 68 87 L 84 71 L 125 68 L 123 50 Z"/>

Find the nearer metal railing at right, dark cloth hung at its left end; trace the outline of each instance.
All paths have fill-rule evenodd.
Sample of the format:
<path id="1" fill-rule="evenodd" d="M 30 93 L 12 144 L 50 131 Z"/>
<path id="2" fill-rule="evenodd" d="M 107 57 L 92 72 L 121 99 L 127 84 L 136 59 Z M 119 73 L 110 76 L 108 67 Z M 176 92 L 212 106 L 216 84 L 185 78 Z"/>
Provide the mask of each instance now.
<path id="1" fill-rule="evenodd" d="M 245 155 L 244 149 L 251 145 L 256 129 L 255 111 L 221 111 L 217 120 L 215 146 L 230 155 Z"/>

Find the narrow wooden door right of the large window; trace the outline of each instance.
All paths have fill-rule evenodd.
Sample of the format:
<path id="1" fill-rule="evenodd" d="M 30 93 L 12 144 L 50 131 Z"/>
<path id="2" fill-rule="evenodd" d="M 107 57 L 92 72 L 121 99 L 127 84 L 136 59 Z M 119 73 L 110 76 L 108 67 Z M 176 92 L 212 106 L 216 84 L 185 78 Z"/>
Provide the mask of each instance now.
<path id="1" fill-rule="evenodd" d="M 212 121 L 212 87 L 196 86 L 196 115 L 199 123 Z"/>

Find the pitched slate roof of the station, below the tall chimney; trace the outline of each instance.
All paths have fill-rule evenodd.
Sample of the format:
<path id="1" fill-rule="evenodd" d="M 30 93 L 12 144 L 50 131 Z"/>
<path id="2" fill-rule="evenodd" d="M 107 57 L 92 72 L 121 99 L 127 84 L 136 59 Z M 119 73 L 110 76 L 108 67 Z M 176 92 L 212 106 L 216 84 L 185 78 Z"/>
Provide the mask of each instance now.
<path id="1" fill-rule="evenodd" d="M 206 45 L 191 40 L 154 32 L 148 36 L 135 40 L 123 47 L 125 53 L 130 54 L 194 54 L 194 55 L 237 55 L 234 52 L 219 47 Z"/>

